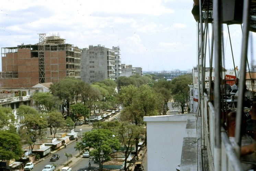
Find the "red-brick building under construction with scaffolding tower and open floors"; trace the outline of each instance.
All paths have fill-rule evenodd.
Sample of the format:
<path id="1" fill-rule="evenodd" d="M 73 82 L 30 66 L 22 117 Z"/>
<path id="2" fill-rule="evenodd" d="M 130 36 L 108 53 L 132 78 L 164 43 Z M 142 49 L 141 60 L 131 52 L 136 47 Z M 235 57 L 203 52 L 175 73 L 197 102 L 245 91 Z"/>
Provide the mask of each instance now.
<path id="1" fill-rule="evenodd" d="M 81 49 L 60 36 L 39 34 L 37 44 L 1 48 L 1 88 L 28 88 L 57 82 L 65 77 L 81 79 Z"/>

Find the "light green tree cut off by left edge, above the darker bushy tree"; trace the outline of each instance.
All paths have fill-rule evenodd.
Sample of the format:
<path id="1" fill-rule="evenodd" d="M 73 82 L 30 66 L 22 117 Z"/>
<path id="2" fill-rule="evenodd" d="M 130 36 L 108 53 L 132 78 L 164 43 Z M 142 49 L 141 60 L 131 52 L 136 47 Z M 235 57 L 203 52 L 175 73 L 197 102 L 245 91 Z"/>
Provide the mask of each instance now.
<path id="1" fill-rule="evenodd" d="M 4 127 L 14 127 L 15 116 L 11 107 L 0 106 L 0 130 Z"/>

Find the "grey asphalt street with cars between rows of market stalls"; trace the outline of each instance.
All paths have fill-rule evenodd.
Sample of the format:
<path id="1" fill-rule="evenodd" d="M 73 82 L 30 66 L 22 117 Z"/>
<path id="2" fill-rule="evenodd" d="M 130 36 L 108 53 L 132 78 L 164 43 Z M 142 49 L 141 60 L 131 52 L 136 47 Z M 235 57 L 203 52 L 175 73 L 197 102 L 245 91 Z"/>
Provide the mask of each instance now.
<path id="1" fill-rule="evenodd" d="M 75 130 L 77 132 L 79 132 L 78 135 L 80 135 L 80 128 L 82 129 L 81 134 L 83 132 L 92 130 L 92 128 L 89 127 L 88 125 L 76 126 Z M 78 142 L 79 141 L 81 141 L 81 139 L 79 139 Z M 68 162 L 67 157 L 64 155 L 64 152 L 66 152 L 68 154 L 72 154 L 73 157 L 77 156 L 79 154 L 79 151 L 75 151 L 75 148 L 74 148 L 75 144 L 76 144 L 75 142 L 70 143 L 70 144 L 68 143 L 67 148 L 62 148 L 62 149 L 58 150 L 56 152 L 56 154 L 58 154 L 60 156 L 60 159 L 57 161 L 50 161 L 51 156 L 46 157 L 44 160 L 42 160 L 41 162 L 37 163 L 34 166 L 35 170 L 38 170 L 38 171 L 43 170 L 45 165 L 50 165 L 51 163 L 55 164 L 56 168 L 59 168 L 61 165 L 63 166 L 65 163 Z M 69 158 L 69 160 L 70 160 L 70 158 Z M 72 168 L 72 170 L 73 170 L 73 168 Z"/>

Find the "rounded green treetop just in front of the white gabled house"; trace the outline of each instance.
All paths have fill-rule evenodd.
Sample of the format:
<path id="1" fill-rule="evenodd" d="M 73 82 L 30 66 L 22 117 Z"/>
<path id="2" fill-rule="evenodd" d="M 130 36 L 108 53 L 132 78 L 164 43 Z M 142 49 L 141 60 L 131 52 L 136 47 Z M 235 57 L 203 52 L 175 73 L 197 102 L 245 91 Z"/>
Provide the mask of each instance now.
<path id="1" fill-rule="evenodd" d="M 53 96 L 49 92 L 34 93 L 32 99 L 41 113 L 44 111 L 51 112 L 58 107 L 58 97 Z"/>

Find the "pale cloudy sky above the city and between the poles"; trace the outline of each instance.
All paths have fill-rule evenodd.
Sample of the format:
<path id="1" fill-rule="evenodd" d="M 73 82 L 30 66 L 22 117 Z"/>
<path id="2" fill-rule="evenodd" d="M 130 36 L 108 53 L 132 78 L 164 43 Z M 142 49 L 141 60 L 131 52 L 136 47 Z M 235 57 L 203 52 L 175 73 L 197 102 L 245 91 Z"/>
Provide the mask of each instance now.
<path id="1" fill-rule="evenodd" d="M 119 46 L 121 63 L 143 71 L 197 65 L 193 0 L 2 0 L 0 8 L 0 48 L 36 44 L 38 34 L 46 33 L 81 49 Z M 240 26 L 231 30 L 239 41 Z M 240 54 L 235 44 L 234 53 Z M 230 55 L 225 65 L 233 66 Z"/>

